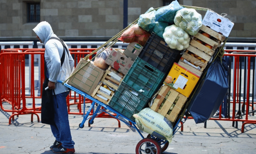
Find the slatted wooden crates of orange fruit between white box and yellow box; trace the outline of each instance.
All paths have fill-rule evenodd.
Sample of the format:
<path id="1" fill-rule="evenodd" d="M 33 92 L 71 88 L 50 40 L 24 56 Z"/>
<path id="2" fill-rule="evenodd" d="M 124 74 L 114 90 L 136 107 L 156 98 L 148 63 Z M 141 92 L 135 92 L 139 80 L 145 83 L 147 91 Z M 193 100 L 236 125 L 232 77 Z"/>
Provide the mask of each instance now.
<path id="1" fill-rule="evenodd" d="M 196 75 L 201 76 L 216 49 L 221 45 L 225 38 L 224 35 L 203 25 L 191 40 L 189 47 L 182 55 L 178 64 L 191 70 Z M 200 67 L 200 69 L 188 65 L 184 62 L 184 59 L 191 65 Z"/>

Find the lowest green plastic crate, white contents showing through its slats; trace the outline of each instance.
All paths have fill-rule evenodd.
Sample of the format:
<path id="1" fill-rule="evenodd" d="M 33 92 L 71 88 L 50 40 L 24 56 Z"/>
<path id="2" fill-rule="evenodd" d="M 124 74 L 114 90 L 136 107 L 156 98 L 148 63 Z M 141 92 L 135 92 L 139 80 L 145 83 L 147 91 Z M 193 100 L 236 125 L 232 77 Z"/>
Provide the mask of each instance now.
<path id="1" fill-rule="evenodd" d="M 149 99 L 149 97 L 136 92 L 134 88 L 126 83 L 121 82 L 108 105 L 132 121 L 135 121 L 133 114 L 139 113 Z"/>

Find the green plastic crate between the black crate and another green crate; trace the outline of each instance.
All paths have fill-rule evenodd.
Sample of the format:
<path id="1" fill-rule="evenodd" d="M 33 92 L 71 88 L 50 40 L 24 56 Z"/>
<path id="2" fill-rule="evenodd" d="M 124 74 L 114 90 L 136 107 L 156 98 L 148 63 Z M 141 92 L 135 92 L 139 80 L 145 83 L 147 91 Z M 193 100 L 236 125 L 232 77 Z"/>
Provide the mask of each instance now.
<path id="1" fill-rule="evenodd" d="M 147 97 L 155 94 L 163 83 L 165 74 L 139 57 L 127 72 L 123 81 Z"/>

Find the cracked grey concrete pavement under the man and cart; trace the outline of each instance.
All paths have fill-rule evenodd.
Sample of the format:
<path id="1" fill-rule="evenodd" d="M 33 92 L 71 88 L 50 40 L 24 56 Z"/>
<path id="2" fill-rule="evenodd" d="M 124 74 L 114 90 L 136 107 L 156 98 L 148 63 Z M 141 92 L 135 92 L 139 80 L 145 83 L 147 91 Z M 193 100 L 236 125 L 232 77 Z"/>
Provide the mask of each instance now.
<path id="1" fill-rule="evenodd" d="M 5 109 L 10 108 L 3 103 Z M 75 108 L 75 106 L 74 106 Z M 9 125 L 11 112 L 0 109 L 0 154 L 53 154 L 50 146 L 54 142 L 49 125 L 37 122 L 31 115 L 15 116 Z M 39 117 L 41 115 L 39 114 Z M 41 118 L 41 117 L 40 117 Z M 255 118 L 255 117 L 254 117 Z M 94 124 L 84 128 L 78 125 L 82 115 L 69 115 L 71 134 L 77 154 L 135 154 L 136 145 L 142 139 L 139 133 L 113 118 L 95 118 Z M 238 128 L 232 122 L 207 121 L 195 124 L 193 119 L 184 123 L 184 130 L 178 130 L 164 154 L 254 154 L 256 152 L 256 125 L 245 125 L 241 133 L 242 122 Z M 142 133 L 146 137 L 147 133 Z"/>

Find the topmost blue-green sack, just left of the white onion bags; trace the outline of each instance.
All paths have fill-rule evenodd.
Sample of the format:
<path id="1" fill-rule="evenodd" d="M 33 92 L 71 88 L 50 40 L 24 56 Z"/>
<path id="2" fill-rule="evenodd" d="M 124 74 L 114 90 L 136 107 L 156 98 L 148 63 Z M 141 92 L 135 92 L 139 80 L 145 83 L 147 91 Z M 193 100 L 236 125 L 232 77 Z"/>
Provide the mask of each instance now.
<path id="1" fill-rule="evenodd" d="M 155 21 L 168 22 L 170 25 L 174 24 L 174 17 L 178 10 L 183 7 L 180 6 L 177 0 L 173 1 L 171 4 L 158 9 L 155 13 Z"/>

